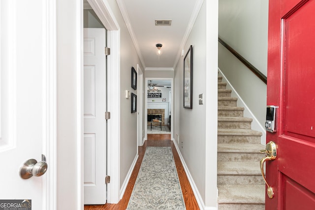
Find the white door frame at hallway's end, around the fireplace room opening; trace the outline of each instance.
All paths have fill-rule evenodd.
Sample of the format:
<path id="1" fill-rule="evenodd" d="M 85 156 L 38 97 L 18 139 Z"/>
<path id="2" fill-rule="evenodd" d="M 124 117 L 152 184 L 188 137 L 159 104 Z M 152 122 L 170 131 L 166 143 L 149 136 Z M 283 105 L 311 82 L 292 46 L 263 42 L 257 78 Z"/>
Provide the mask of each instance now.
<path id="1" fill-rule="evenodd" d="M 171 81 L 171 115 L 174 115 L 173 113 L 173 108 L 174 108 L 174 78 L 146 78 L 145 79 L 146 80 L 146 87 L 147 87 L 147 84 L 148 84 L 148 81 L 149 80 L 170 80 Z M 147 124 L 147 121 L 148 121 L 148 97 L 147 97 L 147 95 L 148 95 L 148 89 L 146 88 L 146 92 L 145 92 L 145 107 L 144 107 L 144 115 L 145 115 L 145 123 Z M 172 117 L 173 118 L 173 117 Z M 173 140 L 174 139 L 174 119 L 173 120 L 171 120 L 171 140 Z M 145 128 L 144 129 L 145 130 L 145 139 L 148 139 L 148 129 L 147 128 Z"/>

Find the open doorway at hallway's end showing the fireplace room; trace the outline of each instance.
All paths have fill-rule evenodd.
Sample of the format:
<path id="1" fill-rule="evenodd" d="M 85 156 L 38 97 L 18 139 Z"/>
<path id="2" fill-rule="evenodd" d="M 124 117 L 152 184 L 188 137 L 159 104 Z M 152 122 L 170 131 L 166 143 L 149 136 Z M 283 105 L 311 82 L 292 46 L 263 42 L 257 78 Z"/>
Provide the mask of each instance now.
<path id="1" fill-rule="evenodd" d="M 173 78 L 146 78 L 145 136 L 170 134 L 173 139 Z"/>

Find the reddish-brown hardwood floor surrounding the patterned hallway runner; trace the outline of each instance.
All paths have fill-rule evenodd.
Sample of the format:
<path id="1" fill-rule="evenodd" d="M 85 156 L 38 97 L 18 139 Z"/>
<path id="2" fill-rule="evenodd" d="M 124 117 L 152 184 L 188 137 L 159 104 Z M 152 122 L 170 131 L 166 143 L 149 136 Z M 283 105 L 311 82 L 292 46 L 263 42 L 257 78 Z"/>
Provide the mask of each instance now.
<path id="1" fill-rule="evenodd" d="M 141 166 L 144 152 L 147 147 L 171 147 L 176 164 L 178 178 L 182 187 L 183 197 L 187 210 L 199 210 L 196 198 L 191 189 L 189 180 L 185 173 L 184 167 L 174 146 L 174 143 L 169 140 L 170 134 L 148 134 L 148 140 L 145 141 L 142 147 L 139 147 L 139 158 L 131 174 L 130 180 L 127 184 L 126 191 L 122 200 L 118 204 L 105 205 L 85 205 L 84 210 L 126 210 L 134 183 Z"/>

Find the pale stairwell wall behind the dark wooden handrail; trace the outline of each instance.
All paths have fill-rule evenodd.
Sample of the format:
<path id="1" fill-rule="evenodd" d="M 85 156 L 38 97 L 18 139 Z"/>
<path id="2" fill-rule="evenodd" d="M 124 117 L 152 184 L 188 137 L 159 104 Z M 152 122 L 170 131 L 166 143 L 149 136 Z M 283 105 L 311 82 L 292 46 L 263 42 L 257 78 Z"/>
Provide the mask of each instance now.
<path id="1" fill-rule="evenodd" d="M 267 76 L 268 1 L 219 0 L 219 36 Z M 219 67 L 263 129 L 267 86 L 221 44 Z"/>

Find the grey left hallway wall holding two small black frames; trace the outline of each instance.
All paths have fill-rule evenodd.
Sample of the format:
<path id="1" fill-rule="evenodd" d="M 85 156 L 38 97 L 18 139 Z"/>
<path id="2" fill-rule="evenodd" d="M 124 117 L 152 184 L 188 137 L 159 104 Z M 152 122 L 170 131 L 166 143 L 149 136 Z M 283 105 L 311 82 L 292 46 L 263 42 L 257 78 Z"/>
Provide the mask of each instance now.
<path id="1" fill-rule="evenodd" d="M 120 26 L 120 76 L 121 76 L 121 94 L 120 94 L 120 117 L 121 117 L 121 133 L 120 133 L 120 186 L 122 187 L 132 161 L 137 155 L 137 114 L 131 114 L 131 100 L 125 97 L 126 90 L 130 93 L 140 94 L 137 90 L 131 88 L 131 67 L 137 69 L 137 64 L 141 61 L 137 56 L 130 34 L 126 28 L 123 16 L 119 10 L 116 0 L 108 0 L 115 18 Z"/>

